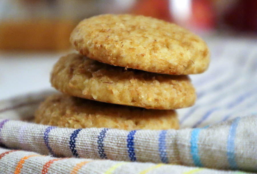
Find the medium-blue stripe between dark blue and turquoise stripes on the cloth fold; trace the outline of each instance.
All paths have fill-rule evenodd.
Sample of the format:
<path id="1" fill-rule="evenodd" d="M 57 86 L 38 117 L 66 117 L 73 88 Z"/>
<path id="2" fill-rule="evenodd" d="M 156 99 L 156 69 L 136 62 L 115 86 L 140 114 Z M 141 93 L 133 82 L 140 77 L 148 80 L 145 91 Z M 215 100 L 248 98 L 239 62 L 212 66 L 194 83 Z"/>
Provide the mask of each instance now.
<path id="1" fill-rule="evenodd" d="M 168 163 L 167 152 L 166 152 L 166 133 L 167 130 L 162 130 L 159 134 L 159 152 L 162 163 Z"/>

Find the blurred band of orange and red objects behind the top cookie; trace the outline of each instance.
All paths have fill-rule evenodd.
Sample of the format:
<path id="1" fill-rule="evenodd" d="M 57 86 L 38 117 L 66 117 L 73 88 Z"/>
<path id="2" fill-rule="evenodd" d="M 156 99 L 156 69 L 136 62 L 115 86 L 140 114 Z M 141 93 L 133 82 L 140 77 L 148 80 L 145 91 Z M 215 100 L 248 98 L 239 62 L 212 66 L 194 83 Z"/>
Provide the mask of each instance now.
<path id="1" fill-rule="evenodd" d="M 257 34 L 256 0 L 1 0 L 0 49 L 69 49 L 76 24 L 103 13 L 152 16 L 200 35 Z"/>

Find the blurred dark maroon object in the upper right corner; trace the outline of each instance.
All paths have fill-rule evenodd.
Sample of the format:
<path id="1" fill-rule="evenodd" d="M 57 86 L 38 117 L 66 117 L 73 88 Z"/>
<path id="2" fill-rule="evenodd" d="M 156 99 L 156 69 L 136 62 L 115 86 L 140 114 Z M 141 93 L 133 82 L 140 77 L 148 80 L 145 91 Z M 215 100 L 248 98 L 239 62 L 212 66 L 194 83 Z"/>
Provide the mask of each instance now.
<path id="1" fill-rule="evenodd" d="M 224 23 L 241 31 L 257 31 L 257 1 L 240 0 L 225 12 Z"/>

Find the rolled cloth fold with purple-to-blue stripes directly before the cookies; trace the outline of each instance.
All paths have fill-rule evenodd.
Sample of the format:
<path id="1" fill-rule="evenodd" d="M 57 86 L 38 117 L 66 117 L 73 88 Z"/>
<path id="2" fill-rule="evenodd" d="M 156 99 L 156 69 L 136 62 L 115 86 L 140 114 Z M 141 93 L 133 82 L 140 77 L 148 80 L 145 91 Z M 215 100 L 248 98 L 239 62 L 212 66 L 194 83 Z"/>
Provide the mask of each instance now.
<path id="1" fill-rule="evenodd" d="M 203 128 L 69 129 L 0 120 L 0 143 L 42 155 L 257 171 L 257 116 Z"/>

